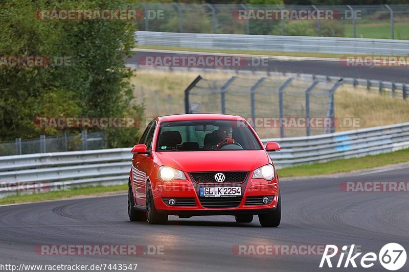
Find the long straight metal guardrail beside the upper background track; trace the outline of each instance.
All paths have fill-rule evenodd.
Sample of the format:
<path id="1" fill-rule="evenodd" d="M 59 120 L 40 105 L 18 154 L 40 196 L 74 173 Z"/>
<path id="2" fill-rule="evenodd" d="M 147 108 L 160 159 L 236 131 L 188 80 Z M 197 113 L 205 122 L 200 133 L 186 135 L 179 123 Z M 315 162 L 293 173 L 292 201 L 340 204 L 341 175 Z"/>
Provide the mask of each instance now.
<path id="1" fill-rule="evenodd" d="M 330 54 L 409 55 L 409 41 L 137 31 L 138 45 Z"/>

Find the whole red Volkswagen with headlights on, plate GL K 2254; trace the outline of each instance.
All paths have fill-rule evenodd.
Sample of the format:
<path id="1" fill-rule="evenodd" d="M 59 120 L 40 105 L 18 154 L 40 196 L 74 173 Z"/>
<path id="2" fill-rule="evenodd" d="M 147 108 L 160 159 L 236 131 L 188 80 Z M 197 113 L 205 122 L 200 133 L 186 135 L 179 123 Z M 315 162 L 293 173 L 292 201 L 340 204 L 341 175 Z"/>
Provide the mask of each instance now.
<path id="1" fill-rule="evenodd" d="M 168 215 L 234 215 L 277 227 L 281 197 L 276 169 L 248 122 L 239 116 L 157 117 L 132 149 L 128 183 L 131 221 L 164 224 Z"/>

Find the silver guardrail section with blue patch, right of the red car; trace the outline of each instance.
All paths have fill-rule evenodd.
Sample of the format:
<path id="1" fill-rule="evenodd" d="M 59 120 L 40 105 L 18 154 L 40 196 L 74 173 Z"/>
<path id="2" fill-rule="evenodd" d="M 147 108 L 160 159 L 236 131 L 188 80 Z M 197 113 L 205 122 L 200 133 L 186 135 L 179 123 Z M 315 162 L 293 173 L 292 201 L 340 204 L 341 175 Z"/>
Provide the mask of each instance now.
<path id="1" fill-rule="evenodd" d="M 282 150 L 270 153 L 277 168 L 321 163 L 393 152 L 409 147 L 409 123 L 294 138 L 263 139 L 279 142 Z M 341 167 L 341 166 L 340 166 Z"/>

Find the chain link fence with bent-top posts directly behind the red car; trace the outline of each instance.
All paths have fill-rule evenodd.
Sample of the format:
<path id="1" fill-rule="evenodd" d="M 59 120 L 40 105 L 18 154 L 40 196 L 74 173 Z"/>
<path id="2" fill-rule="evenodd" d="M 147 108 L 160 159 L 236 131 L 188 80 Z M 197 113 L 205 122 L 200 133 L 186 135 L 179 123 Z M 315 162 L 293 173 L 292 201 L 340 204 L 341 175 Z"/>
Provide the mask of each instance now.
<path id="1" fill-rule="evenodd" d="M 260 137 L 297 137 L 335 132 L 334 92 L 342 81 L 277 77 L 208 80 L 185 90 L 186 113 L 244 117 Z"/>

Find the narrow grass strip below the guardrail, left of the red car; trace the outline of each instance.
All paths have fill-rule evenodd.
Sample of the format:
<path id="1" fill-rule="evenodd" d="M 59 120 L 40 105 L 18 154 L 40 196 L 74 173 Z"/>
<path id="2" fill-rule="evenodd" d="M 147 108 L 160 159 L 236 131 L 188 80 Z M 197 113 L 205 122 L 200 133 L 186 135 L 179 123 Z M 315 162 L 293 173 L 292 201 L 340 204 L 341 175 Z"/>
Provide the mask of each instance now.
<path id="1" fill-rule="evenodd" d="M 127 184 L 123 185 L 112 185 L 112 186 L 87 186 L 72 188 L 65 191 L 55 191 L 55 192 L 45 192 L 45 193 L 33 193 L 24 195 L 10 195 L 3 199 L 0 199 L 0 205 L 6 204 L 16 204 L 16 203 L 30 203 L 30 202 L 41 202 L 48 200 L 58 200 L 65 199 L 69 197 L 75 197 L 79 195 L 99 195 L 106 192 L 126 192 L 128 189 Z"/>

